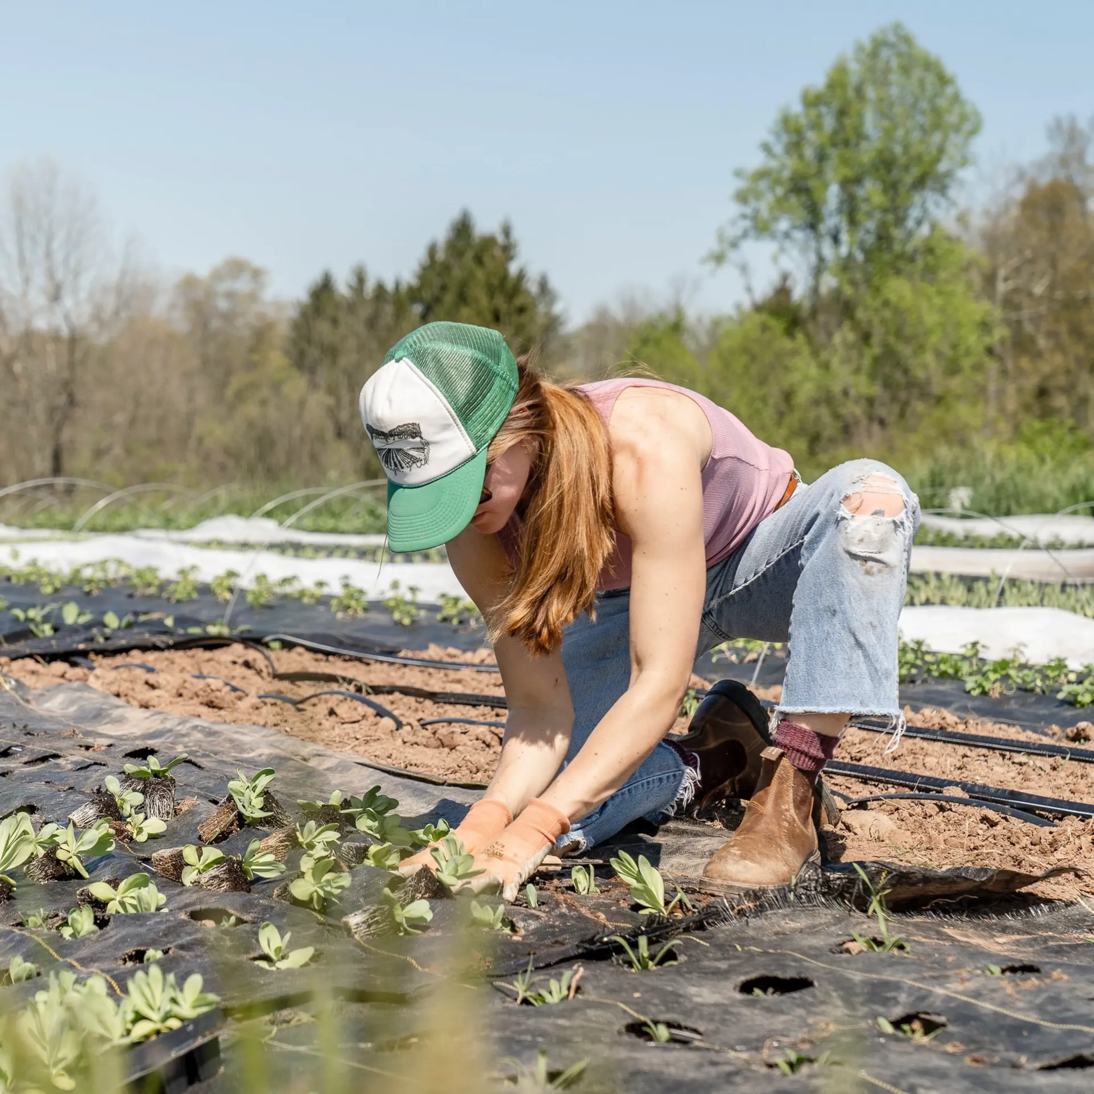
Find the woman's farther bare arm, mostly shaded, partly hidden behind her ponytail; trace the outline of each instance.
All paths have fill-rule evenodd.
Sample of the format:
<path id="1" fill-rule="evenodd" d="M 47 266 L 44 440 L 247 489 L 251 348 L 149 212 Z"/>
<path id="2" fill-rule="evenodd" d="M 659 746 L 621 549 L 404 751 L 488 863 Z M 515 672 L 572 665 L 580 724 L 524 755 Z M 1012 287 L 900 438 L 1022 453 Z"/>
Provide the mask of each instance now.
<path id="1" fill-rule="evenodd" d="M 459 583 L 488 620 L 505 594 L 509 562 L 497 536 L 465 528 L 447 546 Z M 693 640 L 693 645 L 694 645 Z M 498 769 L 484 798 L 504 802 L 515 816 L 558 771 L 570 745 L 573 707 L 562 656 L 534 657 L 515 638 L 494 644 L 509 717 Z"/>

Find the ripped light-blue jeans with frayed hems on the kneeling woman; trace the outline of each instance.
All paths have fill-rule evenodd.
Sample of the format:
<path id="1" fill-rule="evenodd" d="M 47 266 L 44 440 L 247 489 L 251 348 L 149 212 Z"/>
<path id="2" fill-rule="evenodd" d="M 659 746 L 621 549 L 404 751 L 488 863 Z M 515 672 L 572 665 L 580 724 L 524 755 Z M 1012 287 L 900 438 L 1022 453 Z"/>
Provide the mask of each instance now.
<path id="1" fill-rule="evenodd" d="M 871 475 L 896 484 L 904 511 L 850 513 L 845 499 Z M 919 499 L 891 467 L 852 459 L 799 487 L 728 558 L 707 571 L 696 656 L 721 642 L 788 642 L 778 713 L 900 718 L 897 625 L 904 604 Z M 574 723 L 571 760 L 630 683 L 629 590 L 597 597 L 596 621 L 571 624 L 562 641 Z M 559 841 L 578 853 L 638 817 L 673 815 L 687 779 L 661 742 L 626 784 Z"/>

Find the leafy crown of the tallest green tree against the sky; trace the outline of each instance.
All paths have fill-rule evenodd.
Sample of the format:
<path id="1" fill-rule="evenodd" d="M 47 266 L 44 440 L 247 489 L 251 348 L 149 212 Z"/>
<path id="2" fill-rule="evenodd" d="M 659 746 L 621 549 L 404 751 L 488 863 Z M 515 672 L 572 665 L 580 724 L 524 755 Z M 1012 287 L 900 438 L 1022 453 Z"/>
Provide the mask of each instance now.
<path id="1" fill-rule="evenodd" d="M 715 258 L 776 243 L 803 264 L 814 306 L 834 283 L 857 291 L 915 266 L 979 127 L 936 57 L 899 23 L 878 31 L 779 114 L 760 164 L 738 174 Z"/>

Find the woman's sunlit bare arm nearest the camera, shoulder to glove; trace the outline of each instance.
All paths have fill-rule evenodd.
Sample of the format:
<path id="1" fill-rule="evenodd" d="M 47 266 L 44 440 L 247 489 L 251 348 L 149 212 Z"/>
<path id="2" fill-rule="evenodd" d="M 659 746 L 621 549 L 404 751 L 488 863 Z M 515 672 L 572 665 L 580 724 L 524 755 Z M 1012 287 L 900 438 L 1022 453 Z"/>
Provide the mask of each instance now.
<path id="1" fill-rule="evenodd" d="M 632 391 L 642 395 L 620 396 L 610 426 L 617 521 L 633 545 L 630 686 L 540 794 L 571 821 L 619 790 L 673 724 L 706 591 L 701 468 L 709 426 L 686 396 Z"/>

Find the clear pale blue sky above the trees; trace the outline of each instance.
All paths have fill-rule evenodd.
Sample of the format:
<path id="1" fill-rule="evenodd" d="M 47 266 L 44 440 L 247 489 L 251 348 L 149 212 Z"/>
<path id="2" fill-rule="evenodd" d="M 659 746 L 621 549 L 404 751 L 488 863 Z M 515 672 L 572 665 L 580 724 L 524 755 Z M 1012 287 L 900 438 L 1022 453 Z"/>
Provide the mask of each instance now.
<path id="1" fill-rule="evenodd" d="M 571 322 L 627 292 L 718 310 L 702 264 L 777 109 L 895 19 L 978 105 L 985 185 L 1094 114 L 1094 4 L 7 4 L 0 171 L 50 155 L 165 275 L 242 255 L 282 295 L 409 274 L 509 217 Z"/>

